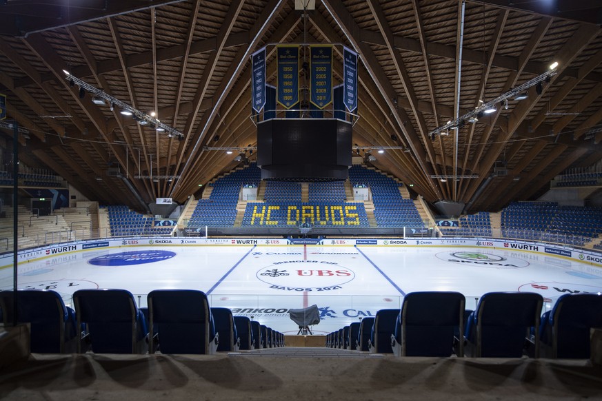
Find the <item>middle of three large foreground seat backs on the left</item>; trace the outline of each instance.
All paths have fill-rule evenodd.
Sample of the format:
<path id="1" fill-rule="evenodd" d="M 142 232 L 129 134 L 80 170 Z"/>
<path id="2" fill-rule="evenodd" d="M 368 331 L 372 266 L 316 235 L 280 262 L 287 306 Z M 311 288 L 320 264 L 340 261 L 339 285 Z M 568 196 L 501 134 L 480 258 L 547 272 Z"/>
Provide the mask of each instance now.
<path id="1" fill-rule="evenodd" d="M 94 353 L 146 353 L 146 320 L 130 291 L 80 289 L 73 294 L 77 327 L 86 325 Z M 77 351 L 81 352 L 81 339 Z"/>

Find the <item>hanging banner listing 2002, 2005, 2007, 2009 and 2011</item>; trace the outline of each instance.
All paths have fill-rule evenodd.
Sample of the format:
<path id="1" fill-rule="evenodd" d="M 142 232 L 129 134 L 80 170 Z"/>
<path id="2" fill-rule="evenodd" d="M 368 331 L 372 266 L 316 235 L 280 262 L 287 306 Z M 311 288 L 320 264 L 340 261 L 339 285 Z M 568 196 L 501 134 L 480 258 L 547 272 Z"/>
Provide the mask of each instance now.
<path id="1" fill-rule="evenodd" d="M 310 103 L 323 109 L 332 102 L 332 46 L 310 46 Z"/>

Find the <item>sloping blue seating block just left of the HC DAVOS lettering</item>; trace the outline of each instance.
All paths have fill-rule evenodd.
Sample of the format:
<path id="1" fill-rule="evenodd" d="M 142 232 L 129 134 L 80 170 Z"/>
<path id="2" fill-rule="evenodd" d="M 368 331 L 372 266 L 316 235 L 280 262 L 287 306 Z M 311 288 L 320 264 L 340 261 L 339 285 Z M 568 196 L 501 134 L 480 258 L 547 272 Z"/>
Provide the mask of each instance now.
<path id="1" fill-rule="evenodd" d="M 219 178 L 209 199 L 199 199 L 188 221 L 188 227 L 232 227 L 237 216 L 237 203 L 243 185 L 259 185 L 261 170 L 255 163 Z"/>

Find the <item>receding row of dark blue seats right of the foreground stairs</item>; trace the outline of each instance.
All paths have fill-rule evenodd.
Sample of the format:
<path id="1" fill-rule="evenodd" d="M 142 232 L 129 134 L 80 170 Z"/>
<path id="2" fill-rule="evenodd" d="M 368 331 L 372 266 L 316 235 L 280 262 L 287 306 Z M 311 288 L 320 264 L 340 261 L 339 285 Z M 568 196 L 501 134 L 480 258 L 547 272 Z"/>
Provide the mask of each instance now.
<path id="1" fill-rule="evenodd" d="M 565 294 L 541 315 L 535 293 L 492 292 L 474 311 L 457 292 L 407 294 L 326 336 L 326 346 L 397 356 L 590 358 L 590 329 L 602 329 L 602 296 Z"/>

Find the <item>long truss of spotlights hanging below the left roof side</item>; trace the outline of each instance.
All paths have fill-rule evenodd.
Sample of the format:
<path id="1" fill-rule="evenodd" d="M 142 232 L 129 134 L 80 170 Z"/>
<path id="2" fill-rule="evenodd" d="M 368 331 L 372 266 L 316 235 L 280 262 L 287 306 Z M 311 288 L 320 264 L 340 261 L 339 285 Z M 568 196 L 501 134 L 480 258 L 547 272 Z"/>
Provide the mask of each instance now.
<path id="1" fill-rule="evenodd" d="M 94 88 L 94 86 L 86 83 L 86 81 L 82 81 L 77 78 L 77 76 L 73 76 L 70 72 L 63 70 L 65 73 L 65 79 L 69 81 L 70 86 L 78 85 L 79 86 L 79 97 L 83 98 L 86 95 L 86 92 L 90 92 L 93 95 L 92 103 L 95 105 L 106 105 L 108 102 L 110 105 L 110 110 L 113 111 L 113 107 L 119 107 L 121 110 L 121 114 L 124 116 L 132 116 L 134 121 L 137 121 L 140 125 L 146 125 L 148 127 L 153 127 L 155 130 L 159 132 L 167 132 L 168 138 L 178 138 L 179 141 L 183 140 L 184 134 L 176 130 L 174 127 L 170 127 L 167 124 L 161 123 L 158 119 L 155 119 L 153 116 L 141 112 L 140 110 L 135 109 L 134 107 L 128 105 L 127 103 L 123 103 L 119 99 L 114 98 L 108 93 L 103 92 L 98 88 Z"/>

